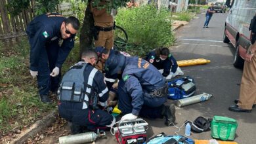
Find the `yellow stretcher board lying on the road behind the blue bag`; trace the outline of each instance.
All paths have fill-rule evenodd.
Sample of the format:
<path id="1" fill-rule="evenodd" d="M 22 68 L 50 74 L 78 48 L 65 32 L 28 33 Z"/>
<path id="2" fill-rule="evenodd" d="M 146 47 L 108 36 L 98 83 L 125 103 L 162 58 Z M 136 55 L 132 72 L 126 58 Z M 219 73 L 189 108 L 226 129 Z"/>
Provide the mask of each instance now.
<path id="1" fill-rule="evenodd" d="M 209 62 L 211 62 L 211 61 L 206 60 L 204 58 L 177 61 L 179 67 L 186 67 L 186 66 L 189 66 L 189 65 L 202 65 L 202 64 L 205 64 L 205 63 L 209 63 Z"/>

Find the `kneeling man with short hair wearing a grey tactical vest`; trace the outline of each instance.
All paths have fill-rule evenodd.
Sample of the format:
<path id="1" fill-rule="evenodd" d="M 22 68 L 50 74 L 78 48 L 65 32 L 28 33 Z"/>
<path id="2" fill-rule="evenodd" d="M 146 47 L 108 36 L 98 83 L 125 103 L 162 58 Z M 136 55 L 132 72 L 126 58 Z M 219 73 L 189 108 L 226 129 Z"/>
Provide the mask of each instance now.
<path id="1" fill-rule="evenodd" d="M 60 117 L 72 122 L 72 134 L 83 132 L 85 127 L 90 131 L 105 130 L 116 122 L 112 115 L 100 109 L 107 107 L 108 88 L 104 75 L 94 67 L 97 59 L 93 50 L 83 52 L 82 60 L 85 62 L 70 67 L 62 78 L 58 90 L 58 111 Z M 81 85 L 83 88 L 79 87 Z"/>

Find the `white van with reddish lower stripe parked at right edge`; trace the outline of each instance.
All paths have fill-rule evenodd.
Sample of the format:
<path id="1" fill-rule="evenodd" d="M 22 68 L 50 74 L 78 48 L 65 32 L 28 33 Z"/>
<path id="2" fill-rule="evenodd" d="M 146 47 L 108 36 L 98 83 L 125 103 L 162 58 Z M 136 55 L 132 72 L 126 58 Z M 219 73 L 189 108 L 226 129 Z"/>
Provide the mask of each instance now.
<path id="1" fill-rule="evenodd" d="M 223 42 L 230 42 L 236 48 L 234 67 L 244 66 L 244 54 L 251 43 L 249 26 L 255 13 L 256 0 L 234 0 L 234 4 L 228 11 Z"/>

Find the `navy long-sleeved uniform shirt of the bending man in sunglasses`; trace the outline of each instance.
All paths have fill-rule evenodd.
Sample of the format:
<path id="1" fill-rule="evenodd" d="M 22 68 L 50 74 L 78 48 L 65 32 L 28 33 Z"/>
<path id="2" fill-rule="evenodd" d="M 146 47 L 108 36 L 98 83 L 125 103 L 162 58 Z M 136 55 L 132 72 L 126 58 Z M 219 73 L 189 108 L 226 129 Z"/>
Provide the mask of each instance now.
<path id="1" fill-rule="evenodd" d="M 65 20 L 60 14 L 42 14 L 36 16 L 28 25 L 26 33 L 30 37 L 30 69 L 38 71 L 40 50 L 47 45 L 51 45 L 51 41 L 60 40 L 60 26 Z M 61 67 L 66 60 L 70 50 L 74 47 L 74 37 L 72 35 L 68 39 L 64 39 L 58 51 L 58 59 L 56 67 Z"/>

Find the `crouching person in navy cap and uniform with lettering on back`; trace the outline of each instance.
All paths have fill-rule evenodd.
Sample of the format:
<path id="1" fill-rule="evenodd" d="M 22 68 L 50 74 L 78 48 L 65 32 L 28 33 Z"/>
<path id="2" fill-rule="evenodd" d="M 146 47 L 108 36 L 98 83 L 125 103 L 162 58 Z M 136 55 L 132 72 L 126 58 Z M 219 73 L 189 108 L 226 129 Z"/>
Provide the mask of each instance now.
<path id="1" fill-rule="evenodd" d="M 105 63 L 106 73 L 119 75 L 117 88 L 121 120 L 133 120 L 139 115 L 165 117 L 165 124 L 175 122 L 175 106 L 167 101 L 167 82 L 152 64 L 138 57 L 110 54 Z"/>

